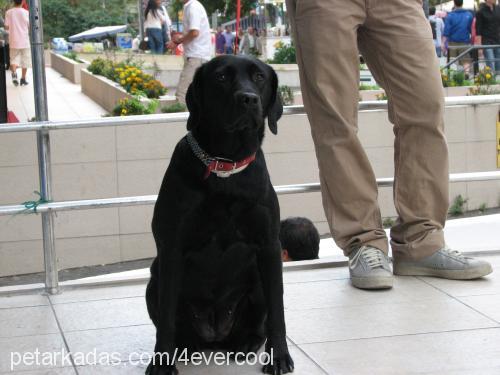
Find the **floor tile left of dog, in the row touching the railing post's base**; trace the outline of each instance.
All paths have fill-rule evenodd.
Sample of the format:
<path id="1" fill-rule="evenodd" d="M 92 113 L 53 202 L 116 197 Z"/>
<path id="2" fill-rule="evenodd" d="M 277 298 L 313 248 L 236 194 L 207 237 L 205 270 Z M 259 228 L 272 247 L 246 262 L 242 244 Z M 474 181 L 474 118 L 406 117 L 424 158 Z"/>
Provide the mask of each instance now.
<path id="1" fill-rule="evenodd" d="M 146 284 L 94 286 L 74 289 L 63 289 L 60 294 L 50 296 L 53 304 L 68 302 L 97 301 L 125 297 L 143 297 L 146 295 Z M 145 302 L 144 302 L 145 303 Z"/>

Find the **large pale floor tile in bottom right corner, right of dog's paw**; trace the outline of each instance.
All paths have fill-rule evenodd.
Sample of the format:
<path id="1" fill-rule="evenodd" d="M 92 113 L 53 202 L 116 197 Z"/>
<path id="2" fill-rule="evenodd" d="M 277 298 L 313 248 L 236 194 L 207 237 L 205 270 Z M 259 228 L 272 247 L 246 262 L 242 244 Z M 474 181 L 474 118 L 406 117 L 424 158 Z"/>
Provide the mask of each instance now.
<path id="1" fill-rule="evenodd" d="M 335 375 L 498 375 L 500 329 L 306 344 Z"/>

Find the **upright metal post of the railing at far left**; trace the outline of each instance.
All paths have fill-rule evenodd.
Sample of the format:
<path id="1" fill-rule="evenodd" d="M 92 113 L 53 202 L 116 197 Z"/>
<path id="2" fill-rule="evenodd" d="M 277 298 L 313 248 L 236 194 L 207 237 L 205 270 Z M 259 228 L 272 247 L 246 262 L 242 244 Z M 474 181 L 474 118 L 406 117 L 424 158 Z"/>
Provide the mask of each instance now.
<path id="1" fill-rule="evenodd" d="M 30 1 L 30 28 L 36 120 L 48 121 L 49 114 L 47 108 L 47 87 L 43 50 L 43 21 L 40 0 Z M 41 199 L 49 201 L 52 199 L 52 191 L 50 186 L 50 138 L 48 130 L 37 130 L 37 147 L 40 196 Z M 43 258 L 45 264 L 45 290 L 49 294 L 56 294 L 58 292 L 59 277 L 55 250 L 54 217 L 50 211 L 42 213 L 42 234 Z"/>

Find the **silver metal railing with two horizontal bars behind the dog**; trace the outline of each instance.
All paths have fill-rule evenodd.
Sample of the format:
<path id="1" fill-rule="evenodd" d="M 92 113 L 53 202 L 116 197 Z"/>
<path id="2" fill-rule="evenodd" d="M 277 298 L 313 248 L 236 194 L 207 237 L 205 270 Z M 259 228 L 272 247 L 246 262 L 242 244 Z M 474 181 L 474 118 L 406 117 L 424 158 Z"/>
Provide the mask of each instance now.
<path id="1" fill-rule="evenodd" d="M 479 105 L 479 104 L 497 104 L 500 105 L 500 95 L 490 96 L 472 96 L 472 97 L 448 97 L 445 98 L 446 106 L 455 105 Z M 387 101 L 369 101 L 360 102 L 360 110 L 380 110 L 387 108 Z M 303 106 L 285 107 L 284 115 L 302 115 L 305 114 Z M 39 157 L 39 174 L 40 184 L 50 186 L 50 140 L 49 131 L 60 129 L 79 129 L 93 128 L 103 126 L 124 126 L 135 125 L 144 126 L 150 124 L 168 124 L 179 123 L 187 120 L 188 113 L 176 114 L 161 114 L 161 115 L 144 115 L 130 117 L 108 117 L 95 120 L 77 120 L 77 121 L 57 121 L 57 122 L 34 122 L 34 123 L 18 123 L 18 124 L 0 124 L 1 133 L 15 133 L 36 131 L 38 139 L 38 157 Z M 488 181 L 500 180 L 500 171 L 491 172 L 476 172 L 476 173 L 458 173 L 450 175 L 450 182 L 472 182 L 472 181 Z M 394 180 L 392 178 L 377 179 L 377 184 L 380 187 L 392 186 Z M 319 183 L 298 184 L 298 185 L 283 185 L 276 186 L 277 194 L 298 194 L 319 192 Z M 59 277 L 56 262 L 55 239 L 53 236 L 53 214 L 58 211 L 70 210 L 86 210 L 95 208 L 110 208 L 124 207 L 136 205 L 151 205 L 156 202 L 156 195 L 144 195 L 134 197 L 114 197 L 104 199 L 89 199 L 76 201 L 59 201 L 40 203 L 37 206 L 37 212 L 49 220 L 42 220 L 43 229 L 43 248 L 44 248 L 44 269 L 45 269 L 45 289 L 50 294 L 58 292 Z M 5 205 L 0 206 L 0 216 L 16 215 L 27 212 L 24 205 Z M 29 210 L 28 213 L 33 211 Z"/>

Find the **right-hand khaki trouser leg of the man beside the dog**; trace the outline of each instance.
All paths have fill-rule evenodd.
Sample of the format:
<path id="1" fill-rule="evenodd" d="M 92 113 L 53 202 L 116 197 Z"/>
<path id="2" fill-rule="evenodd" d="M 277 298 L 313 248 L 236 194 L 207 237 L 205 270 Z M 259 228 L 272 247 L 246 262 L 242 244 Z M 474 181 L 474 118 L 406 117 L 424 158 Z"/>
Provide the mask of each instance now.
<path id="1" fill-rule="evenodd" d="M 398 17 L 391 11 L 398 9 Z M 443 88 L 432 33 L 418 1 L 385 0 L 368 10 L 360 46 L 386 90 L 395 133 L 393 256 L 421 259 L 444 246 L 448 149 Z"/>

